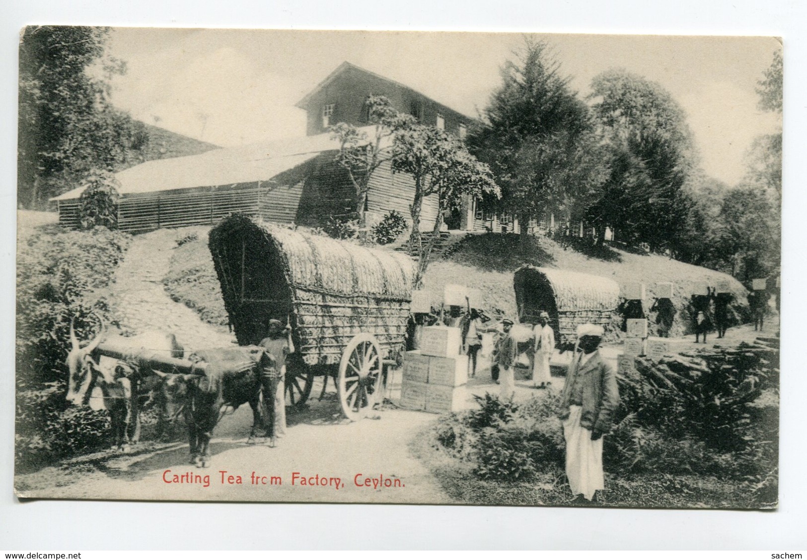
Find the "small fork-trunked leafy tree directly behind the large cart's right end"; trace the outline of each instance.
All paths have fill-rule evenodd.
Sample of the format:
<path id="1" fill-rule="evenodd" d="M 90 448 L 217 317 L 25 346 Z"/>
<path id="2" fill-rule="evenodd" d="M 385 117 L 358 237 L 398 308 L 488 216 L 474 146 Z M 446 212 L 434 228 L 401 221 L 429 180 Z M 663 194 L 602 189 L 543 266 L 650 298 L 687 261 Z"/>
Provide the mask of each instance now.
<path id="1" fill-rule="evenodd" d="M 449 209 L 459 204 L 462 195 L 481 197 L 487 193 L 499 196 L 500 191 L 487 164 L 471 156 L 454 135 L 437 127 L 415 125 L 399 131 L 395 135 L 392 168 L 410 174 L 415 182 L 415 193 L 409 207 L 412 217 L 410 251 L 417 251 L 420 255 L 416 279 L 416 285 L 420 285 Z M 429 243 L 421 247 L 420 212 L 424 198 L 429 196 L 437 197 L 437 216 Z"/>

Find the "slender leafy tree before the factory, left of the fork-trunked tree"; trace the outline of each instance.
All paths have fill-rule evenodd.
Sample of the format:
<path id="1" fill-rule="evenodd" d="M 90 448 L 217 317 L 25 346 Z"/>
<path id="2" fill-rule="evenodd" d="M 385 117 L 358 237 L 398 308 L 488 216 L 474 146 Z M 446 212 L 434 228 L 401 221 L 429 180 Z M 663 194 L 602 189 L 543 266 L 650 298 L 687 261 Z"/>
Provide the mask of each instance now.
<path id="1" fill-rule="evenodd" d="M 345 168 L 353 188 L 356 189 L 356 214 L 360 230 L 366 230 L 364 211 L 370 179 L 376 169 L 392 159 L 391 138 L 396 131 L 411 127 L 415 119 L 396 110 L 383 95 L 367 97 L 366 110 L 373 126 L 372 136 L 352 124 L 337 122 L 328 127 L 331 138 L 339 140 L 336 161 Z"/>

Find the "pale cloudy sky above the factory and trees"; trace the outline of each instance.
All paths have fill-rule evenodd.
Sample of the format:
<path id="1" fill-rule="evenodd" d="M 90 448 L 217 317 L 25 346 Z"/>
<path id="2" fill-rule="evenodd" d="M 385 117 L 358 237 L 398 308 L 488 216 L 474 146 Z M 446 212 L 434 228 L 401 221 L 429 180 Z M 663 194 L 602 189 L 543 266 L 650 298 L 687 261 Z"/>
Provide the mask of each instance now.
<path id="1" fill-rule="evenodd" d="M 705 172 L 734 185 L 756 135 L 780 116 L 757 108 L 757 81 L 780 48 L 771 37 L 535 35 L 589 93 L 625 68 L 667 89 L 688 115 Z M 347 60 L 472 117 L 523 43 L 515 33 L 266 31 L 118 27 L 109 53 L 127 63 L 112 101 L 133 117 L 220 146 L 305 134 L 296 108 Z"/>

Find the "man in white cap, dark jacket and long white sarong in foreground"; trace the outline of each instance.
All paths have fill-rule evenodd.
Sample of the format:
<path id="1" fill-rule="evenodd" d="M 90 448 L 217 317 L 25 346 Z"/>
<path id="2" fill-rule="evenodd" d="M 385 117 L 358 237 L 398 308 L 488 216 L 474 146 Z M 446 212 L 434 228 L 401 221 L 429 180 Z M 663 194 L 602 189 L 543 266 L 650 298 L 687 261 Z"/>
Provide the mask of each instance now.
<path id="1" fill-rule="evenodd" d="M 602 438 L 619 406 L 617 376 L 597 351 L 602 337 L 601 326 L 577 327 L 580 352 L 571 359 L 561 396 L 566 475 L 575 502 L 583 504 L 604 489 Z"/>

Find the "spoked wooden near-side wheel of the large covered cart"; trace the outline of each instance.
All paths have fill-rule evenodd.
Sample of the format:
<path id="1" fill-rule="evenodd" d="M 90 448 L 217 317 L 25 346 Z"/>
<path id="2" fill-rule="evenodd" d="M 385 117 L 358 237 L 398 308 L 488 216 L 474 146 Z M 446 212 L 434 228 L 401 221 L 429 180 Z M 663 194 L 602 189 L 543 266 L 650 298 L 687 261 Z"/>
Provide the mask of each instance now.
<path id="1" fill-rule="evenodd" d="M 342 353 L 337 392 L 342 413 L 361 420 L 381 393 L 381 345 L 372 334 L 357 334 Z"/>

